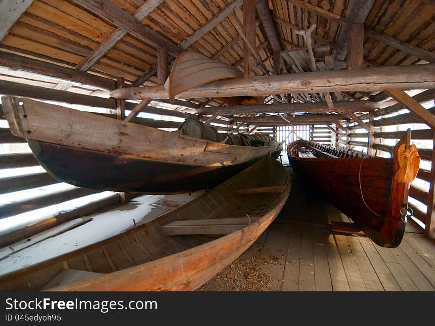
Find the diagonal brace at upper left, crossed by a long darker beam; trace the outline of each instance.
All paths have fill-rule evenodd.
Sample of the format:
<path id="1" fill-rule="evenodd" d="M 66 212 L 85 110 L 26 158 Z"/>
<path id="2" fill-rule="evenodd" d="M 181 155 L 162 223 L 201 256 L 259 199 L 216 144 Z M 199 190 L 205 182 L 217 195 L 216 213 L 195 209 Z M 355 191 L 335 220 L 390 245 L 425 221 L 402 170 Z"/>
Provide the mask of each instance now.
<path id="1" fill-rule="evenodd" d="M 149 13 L 151 13 L 156 7 L 162 3 L 163 0 L 148 0 L 133 13 L 133 17 L 138 21 L 142 21 Z M 103 57 L 118 41 L 127 35 L 127 31 L 117 27 L 112 33 L 107 35 L 104 40 L 95 47 L 86 58 L 84 58 L 76 69 L 87 71 L 95 62 Z"/>

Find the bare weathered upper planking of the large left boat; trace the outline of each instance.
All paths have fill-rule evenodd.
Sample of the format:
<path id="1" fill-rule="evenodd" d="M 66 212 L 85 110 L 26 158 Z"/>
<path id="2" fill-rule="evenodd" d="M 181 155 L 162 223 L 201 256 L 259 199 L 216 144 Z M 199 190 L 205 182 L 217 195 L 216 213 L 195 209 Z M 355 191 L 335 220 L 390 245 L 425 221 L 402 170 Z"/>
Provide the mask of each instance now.
<path id="1" fill-rule="evenodd" d="M 167 163 L 237 165 L 260 159 L 282 145 L 226 145 L 26 98 L 2 97 L 2 104 L 15 136 Z"/>

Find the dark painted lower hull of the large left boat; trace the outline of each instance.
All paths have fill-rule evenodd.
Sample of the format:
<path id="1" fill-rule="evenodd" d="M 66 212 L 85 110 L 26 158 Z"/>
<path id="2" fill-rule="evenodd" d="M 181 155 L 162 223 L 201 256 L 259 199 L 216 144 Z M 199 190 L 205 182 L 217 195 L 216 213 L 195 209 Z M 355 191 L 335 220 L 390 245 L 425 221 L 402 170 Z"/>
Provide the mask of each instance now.
<path id="1" fill-rule="evenodd" d="M 261 157 L 228 166 L 195 166 L 30 140 L 38 162 L 57 180 L 112 191 L 184 193 L 217 186 Z"/>

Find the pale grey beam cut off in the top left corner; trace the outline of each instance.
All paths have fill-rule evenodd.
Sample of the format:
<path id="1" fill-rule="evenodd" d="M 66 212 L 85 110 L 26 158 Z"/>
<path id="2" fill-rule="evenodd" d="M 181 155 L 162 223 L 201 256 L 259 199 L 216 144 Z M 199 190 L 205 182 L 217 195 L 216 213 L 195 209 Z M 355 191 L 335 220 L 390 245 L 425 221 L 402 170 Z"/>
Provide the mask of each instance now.
<path id="1" fill-rule="evenodd" d="M 33 0 L 0 1 L 0 42 L 32 2 Z"/>

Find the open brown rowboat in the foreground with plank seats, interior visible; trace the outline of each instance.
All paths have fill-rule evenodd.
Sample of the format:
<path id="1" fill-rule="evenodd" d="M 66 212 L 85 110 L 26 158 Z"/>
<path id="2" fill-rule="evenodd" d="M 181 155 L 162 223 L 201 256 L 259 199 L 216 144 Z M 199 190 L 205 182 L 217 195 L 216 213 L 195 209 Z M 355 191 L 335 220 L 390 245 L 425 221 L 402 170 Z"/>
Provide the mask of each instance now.
<path id="1" fill-rule="evenodd" d="M 194 290 L 275 219 L 291 178 L 266 157 L 204 195 L 127 232 L 0 277 L 0 290 Z"/>

